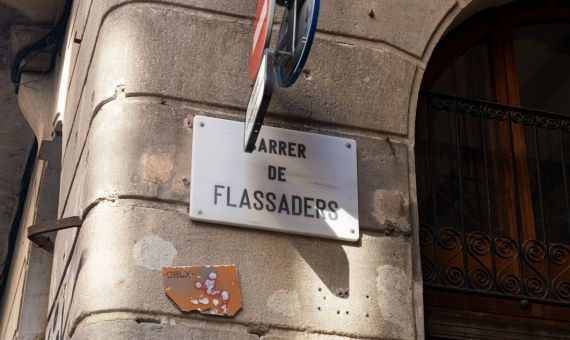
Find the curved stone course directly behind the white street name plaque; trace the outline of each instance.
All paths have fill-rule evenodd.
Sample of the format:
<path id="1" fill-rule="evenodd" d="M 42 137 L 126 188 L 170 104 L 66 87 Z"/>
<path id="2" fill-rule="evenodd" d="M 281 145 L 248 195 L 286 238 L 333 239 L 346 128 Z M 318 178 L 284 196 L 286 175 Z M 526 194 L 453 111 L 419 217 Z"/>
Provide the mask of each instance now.
<path id="1" fill-rule="evenodd" d="M 97 166 L 76 173 L 75 187 L 82 193 L 79 209 L 114 196 L 147 197 L 187 206 L 189 124 L 198 112 L 198 108 L 135 99 L 106 104 L 93 120 L 89 136 L 80 137 L 88 138 L 84 154 L 89 155 L 89 164 Z M 209 114 L 235 119 L 223 111 Z M 407 147 L 382 137 L 355 137 L 315 127 L 310 131 L 356 139 L 361 228 L 383 231 L 388 226 L 409 232 L 408 175 L 401 171 L 408 166 Z M 79 170 L 81 167 L 85 163 Z M 74 197 L 69 199 L 70 213 L 77 212 L 72 208 Z"/>

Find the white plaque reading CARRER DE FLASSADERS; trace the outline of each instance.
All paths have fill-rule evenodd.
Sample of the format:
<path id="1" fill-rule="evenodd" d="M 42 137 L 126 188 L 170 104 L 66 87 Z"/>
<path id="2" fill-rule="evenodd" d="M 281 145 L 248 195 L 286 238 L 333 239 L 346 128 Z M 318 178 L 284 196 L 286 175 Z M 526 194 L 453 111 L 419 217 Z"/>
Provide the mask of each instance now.
<path id="1" fill-rule="evenodd" d="M 193 126 L 192 220 L 359 239 L 354 140 L 265 126 L 245 153 L 243 123 L 196 116 Z"/>

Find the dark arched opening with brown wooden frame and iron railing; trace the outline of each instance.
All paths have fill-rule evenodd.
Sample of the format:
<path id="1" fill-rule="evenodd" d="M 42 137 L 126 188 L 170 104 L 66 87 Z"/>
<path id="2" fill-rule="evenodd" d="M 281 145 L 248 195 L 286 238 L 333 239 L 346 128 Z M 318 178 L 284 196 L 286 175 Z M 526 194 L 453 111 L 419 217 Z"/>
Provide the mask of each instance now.
<path id="1" fill-rule="evenodd" d="M 570 4 L 506 6 L 448 34 L 422 82 L 415 154 L 427 334 L 564 327 Z"/>

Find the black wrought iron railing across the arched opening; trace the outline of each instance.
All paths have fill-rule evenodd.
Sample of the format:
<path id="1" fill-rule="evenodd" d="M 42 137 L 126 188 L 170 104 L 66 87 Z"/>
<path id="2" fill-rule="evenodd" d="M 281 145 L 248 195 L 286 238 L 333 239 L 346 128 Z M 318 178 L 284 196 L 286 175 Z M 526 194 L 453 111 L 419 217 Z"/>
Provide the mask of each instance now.
<path id="1" fill-rule="evenodd" d="M 440 94 L 419 111 L 424 284 L 570 306 L 570 116 Z"/>

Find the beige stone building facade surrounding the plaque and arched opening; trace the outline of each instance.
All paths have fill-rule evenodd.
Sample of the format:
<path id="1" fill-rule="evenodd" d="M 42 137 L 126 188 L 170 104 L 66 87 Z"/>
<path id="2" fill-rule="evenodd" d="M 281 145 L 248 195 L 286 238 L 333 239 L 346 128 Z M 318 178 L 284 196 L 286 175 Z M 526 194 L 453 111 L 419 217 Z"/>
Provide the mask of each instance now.
<path id="1" fill-rule="evenodd" d="M 45 2 L 58 9 L 46 19 L 54 25 L 66 2 Z M 301 79 L 276 91 L 266 124 L 356 140 L 361 239 L 352 244 L 188 217 L 192 121 L 243 121 L 256 1 L 73 1 L 54 69 L 20 80 L 39 151 L 0 337 L 424 338 L 422 80 L 444 36 L 511 2 L 322 1 Z M 26 44 L 14 40 L 19 22 L 6 22 L 12 61 Z M 71 216 L 82 225 L 52 234 L 52 254 L 26 239 L 26 227 Z M 163 266 L 223 264 L 239 271 L 235 317 L 182 313 L 166 297 Z"/>

